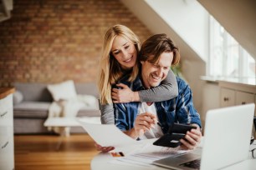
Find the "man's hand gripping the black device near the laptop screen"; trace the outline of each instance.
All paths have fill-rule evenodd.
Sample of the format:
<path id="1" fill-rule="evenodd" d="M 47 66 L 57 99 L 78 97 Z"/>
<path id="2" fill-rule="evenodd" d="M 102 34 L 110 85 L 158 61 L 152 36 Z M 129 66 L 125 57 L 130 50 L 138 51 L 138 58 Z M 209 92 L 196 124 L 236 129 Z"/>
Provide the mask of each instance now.
<path id="1" fill-rule="evenodd" d="M 187 131 L 185 139 L 181 139 L 181 147 L 184 149 L 194 149 L 197 145 L 201 142 L 202 133 L 198 125 L 192 124 L 197 126 L 197 129 L 192 129 L 191 131 Z"/>

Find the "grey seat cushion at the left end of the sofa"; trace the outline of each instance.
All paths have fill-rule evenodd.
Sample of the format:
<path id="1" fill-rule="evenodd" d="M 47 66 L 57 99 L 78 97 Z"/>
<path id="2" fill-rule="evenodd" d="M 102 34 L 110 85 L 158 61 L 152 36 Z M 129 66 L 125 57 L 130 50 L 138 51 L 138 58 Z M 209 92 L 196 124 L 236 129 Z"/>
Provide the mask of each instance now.
<path id="1" fill-rule="evenodd" d="M 21 102 L 13 107 L 13 117 L 47 118 L 50 102 Z"/>

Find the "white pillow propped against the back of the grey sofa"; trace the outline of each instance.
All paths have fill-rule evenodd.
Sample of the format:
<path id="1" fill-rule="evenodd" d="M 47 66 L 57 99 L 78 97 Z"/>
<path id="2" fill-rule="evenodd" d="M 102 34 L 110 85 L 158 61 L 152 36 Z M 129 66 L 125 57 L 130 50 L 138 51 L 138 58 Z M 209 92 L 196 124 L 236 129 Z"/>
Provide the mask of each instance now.
<path id="1" fill-rule="evenodd" d="M 54 101 L 59 101 L 59 99 L 69 100 L 76 97 L 73 80 L 60 82 L 57 84 L 49 84 L 47 88 L 52 94 Z"/>

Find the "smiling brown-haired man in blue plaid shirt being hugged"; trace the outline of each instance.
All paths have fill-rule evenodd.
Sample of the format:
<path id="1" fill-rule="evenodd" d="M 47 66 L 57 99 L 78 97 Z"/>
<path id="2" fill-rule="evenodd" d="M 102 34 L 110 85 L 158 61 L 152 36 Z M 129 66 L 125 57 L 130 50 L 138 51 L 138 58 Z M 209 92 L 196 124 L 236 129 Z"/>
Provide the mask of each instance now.
<path id="1" fill-rule="evenodd" d="M 179 62 L 180 56 L 178 48 L 166 34 L 156 34 L 142 44 L 138 59 L 141 72 L 136 80 L 128 82 L 127 76 L 120 81 L 132 91 L 158 86 L 172 64 Z M 195 148 L 202 137 L 200 116 L 193 107 L 190 87 L 179 77 L 177 84 L 178 96 L 168 101 L 115 103 L 115 126 L 137 139 L 159 138 L 174 122 L 192 124 L 197 129 L 187 132 L 186 140 L 181 139 L 181 143 L 183 148 Z"/>

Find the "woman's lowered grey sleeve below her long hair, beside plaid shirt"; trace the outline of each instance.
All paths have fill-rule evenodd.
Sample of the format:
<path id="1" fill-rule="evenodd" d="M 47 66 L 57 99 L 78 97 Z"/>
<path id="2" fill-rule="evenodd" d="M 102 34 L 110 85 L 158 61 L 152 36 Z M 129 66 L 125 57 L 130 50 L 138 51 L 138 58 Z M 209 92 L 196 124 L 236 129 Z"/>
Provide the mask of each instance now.
<path id="1" fill-rule="evenodd" d="M 112 104 L 100 104 L 100 120 L 102 124 L 115 124 L 114 107 Z"/>

